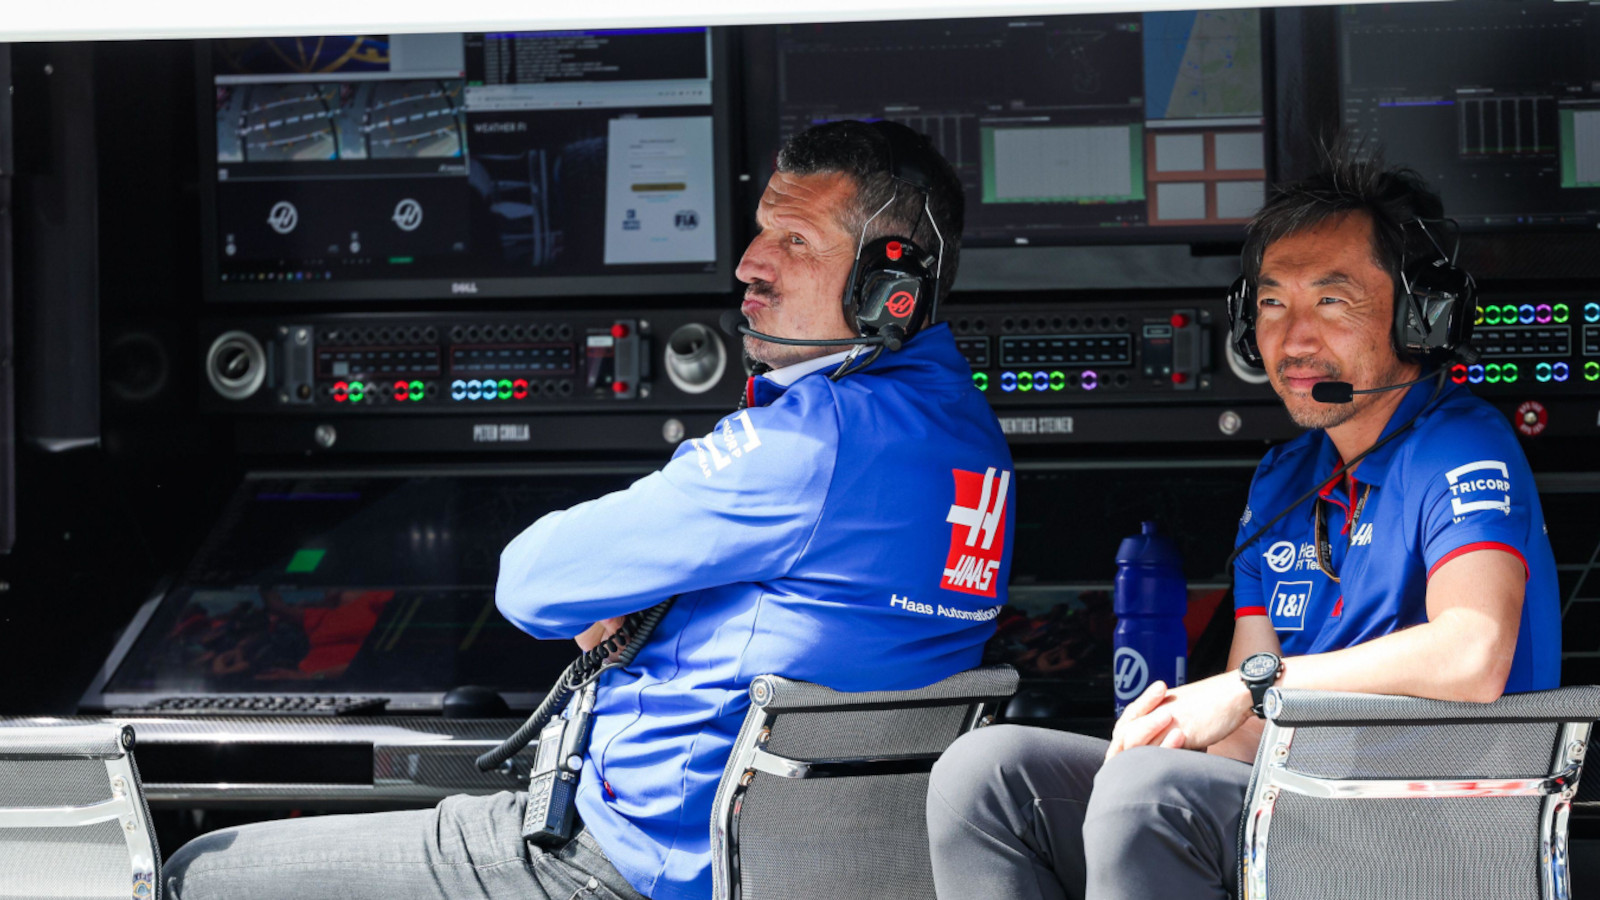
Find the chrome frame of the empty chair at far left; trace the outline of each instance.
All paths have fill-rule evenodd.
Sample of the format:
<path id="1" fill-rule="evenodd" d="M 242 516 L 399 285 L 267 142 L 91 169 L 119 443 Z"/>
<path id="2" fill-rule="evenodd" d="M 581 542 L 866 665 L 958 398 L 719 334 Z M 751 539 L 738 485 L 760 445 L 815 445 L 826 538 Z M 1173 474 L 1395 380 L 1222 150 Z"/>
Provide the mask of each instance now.
<path id="1" fill-rule="evenodd" d="M 98 759 L 106 764 L 109 799 L 64 807 L 0 807 L 3 828 L 85 828 L 120 822 L 128 847 L 128 897 L 160 900 L 162 854 L 150 830 L 150 810 L 133 762 L 131 725 L 104 722 L 62 725 L 51 721 L 0 724 L 0 761 Z"/>

